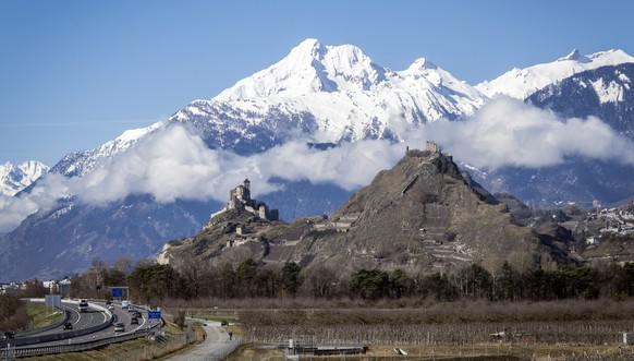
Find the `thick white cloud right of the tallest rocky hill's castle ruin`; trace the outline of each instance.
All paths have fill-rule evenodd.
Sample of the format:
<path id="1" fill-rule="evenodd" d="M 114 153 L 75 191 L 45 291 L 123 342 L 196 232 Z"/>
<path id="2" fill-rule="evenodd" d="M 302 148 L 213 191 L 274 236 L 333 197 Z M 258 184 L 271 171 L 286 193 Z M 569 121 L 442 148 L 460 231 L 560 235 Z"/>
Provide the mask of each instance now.
<path id="1" fill-rule="evenodd" d="M 560 119 L 505 97 L 491 100 L 472 119 L 431 123 L 425 132 L 476 167 L 549 167 L 573 156 L 634 165 L 633 143 L 598 118 Z"/>

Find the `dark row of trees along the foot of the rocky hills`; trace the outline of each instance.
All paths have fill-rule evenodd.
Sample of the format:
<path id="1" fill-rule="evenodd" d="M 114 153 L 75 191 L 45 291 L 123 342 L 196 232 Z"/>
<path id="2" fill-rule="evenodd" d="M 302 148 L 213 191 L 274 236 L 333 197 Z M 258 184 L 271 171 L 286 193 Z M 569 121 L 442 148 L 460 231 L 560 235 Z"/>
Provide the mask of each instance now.
<path id="1" fill-rule="evenodd" d="M 602 268 L 563 267 L 519 272 L 504 263 L 495 273 L 472 264 L 453 273 L 407 274 L 403 269 L 361 268 L 341 277 L 325 266 L 303 269 L 290 262 L 258 265 L 247 258 L 236 265 L 188 264 L 174 267 L 150 261 L 113 265 L 96 261 L 72 279 L 73 297 L 109 298 L 111 287 L 127 287 L 135 302 L 170 299 L 253 298 L 420 298 L 438 301 L 547 301 L 623 299 L 634 296 L 634 263 Z"/>

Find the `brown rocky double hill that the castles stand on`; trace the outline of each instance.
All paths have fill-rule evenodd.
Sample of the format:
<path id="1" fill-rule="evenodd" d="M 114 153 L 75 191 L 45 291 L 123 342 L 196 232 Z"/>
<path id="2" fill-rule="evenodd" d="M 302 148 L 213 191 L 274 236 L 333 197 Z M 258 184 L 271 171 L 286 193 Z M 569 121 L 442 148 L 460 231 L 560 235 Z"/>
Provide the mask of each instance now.
<path id="1" fill-rule="evenodd" d="M 231 209 L 211 218 L 197 236 L 167 244 L 160 260 L 293 261 L 308 268 L 329 266 L 341 275 L 358 267 L 432 273 L 471 263 L 495 269 L 509 261 L 519 269 L 548 269 L 574 262 L 565 242 L 541 239 L 428 143 L 425 151 L 407 151 L 330 219 L 283 224 Z"/>

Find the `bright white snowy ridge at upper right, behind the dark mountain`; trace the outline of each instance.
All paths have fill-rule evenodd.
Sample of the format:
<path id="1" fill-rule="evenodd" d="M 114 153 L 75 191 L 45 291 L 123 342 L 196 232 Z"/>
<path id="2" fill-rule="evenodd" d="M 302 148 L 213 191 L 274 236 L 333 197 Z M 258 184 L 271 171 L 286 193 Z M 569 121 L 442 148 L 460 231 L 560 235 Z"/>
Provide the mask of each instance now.
<path id="1" fill-rule="evenodd" d="M 582 56 L 576 49 L 557 61 L 525 69 L 513 69 L 499 77 L 483 82 L 475 87 L 489 97 L 496 94 L 525 99 L 547 85 L 557 83 L 576 73 L 605 65 L 634 62 L 634 57 L 623 50 L 608 50 Z"/>

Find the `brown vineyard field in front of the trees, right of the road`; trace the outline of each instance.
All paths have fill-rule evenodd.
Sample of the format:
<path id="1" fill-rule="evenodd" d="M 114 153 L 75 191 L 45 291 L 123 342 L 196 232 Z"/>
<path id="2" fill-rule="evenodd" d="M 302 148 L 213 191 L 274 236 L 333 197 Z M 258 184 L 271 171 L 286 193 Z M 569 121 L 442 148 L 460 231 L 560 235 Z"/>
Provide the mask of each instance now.
<path id="1" fill-rule="evenodd" d="M 304 356 L 313 360 L 633 360 L 623 345 L 634 302 L 455 302 L 419 308 L 223 309 L 244 345 L 230 360 L 283 360 L 270 346 L 366 345 L 364 354 Z M 209 312 L 212 313 L 212 312 Z M 268 347 L 267 347 L 268 346 Z M 397 354 L 394 349 L 407 356 Z"/>

